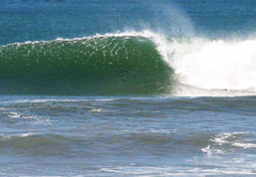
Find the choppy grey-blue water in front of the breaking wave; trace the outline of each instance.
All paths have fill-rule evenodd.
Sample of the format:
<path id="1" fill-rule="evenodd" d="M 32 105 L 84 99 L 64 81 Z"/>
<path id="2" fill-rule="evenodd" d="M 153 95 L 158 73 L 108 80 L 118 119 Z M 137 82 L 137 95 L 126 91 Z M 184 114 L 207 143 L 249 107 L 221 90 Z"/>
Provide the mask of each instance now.
<path id="1" fill-rule="evenodd" d="M 252 175 L 255 96 L 3 96 L 1 176 Z"/>

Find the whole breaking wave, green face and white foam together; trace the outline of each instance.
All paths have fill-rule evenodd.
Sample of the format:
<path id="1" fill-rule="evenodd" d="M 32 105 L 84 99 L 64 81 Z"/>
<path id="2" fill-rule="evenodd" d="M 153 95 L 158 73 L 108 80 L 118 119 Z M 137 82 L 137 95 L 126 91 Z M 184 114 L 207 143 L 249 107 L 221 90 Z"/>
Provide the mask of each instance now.
<path id="1" fill-rule="evenodd" d="M 255 94 L 255 46 L 150 31 L 10 44 L 0 48 L 0 93 L 175 94 L 185 86 Z"/>

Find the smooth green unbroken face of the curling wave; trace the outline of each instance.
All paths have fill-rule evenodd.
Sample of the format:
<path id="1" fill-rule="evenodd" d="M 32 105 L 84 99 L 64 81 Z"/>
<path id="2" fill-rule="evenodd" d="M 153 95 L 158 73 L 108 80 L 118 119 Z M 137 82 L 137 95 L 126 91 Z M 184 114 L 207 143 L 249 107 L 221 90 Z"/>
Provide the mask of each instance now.
<path id="1" fill-rule="evenodd" d="M 0 48 L 0 93 L 158 94 L 172 71 L 154 43 L 105 35 Z"/>

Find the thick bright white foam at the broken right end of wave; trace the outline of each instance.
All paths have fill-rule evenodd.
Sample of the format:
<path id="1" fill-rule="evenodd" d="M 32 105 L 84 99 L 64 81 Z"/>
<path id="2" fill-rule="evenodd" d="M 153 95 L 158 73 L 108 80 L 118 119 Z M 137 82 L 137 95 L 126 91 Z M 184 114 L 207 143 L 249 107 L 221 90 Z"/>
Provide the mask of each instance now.
<path id="1" fill-rule="evenodd" d="M 168 63 L 180 83 L 198 89 L 252 91 L 256 94 L 256 39 L 174 41 Z"/>

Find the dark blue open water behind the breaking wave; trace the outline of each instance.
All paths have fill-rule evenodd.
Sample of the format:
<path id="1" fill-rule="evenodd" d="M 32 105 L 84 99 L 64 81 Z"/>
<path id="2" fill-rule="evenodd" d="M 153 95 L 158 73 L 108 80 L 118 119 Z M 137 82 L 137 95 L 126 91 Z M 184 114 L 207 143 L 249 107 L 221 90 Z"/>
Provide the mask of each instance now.
<path id="1" fill-rule="evenodd" d="M 180 14 L 193 24 L 196 34 L 215 38 L 248 35 L 256 27 L 255 5 L 254 0 L 3 0 L 0 43 L 77 38 L 142 28 L 144 24 L 173 28 L 173 21 L 186 28 Z"/>

